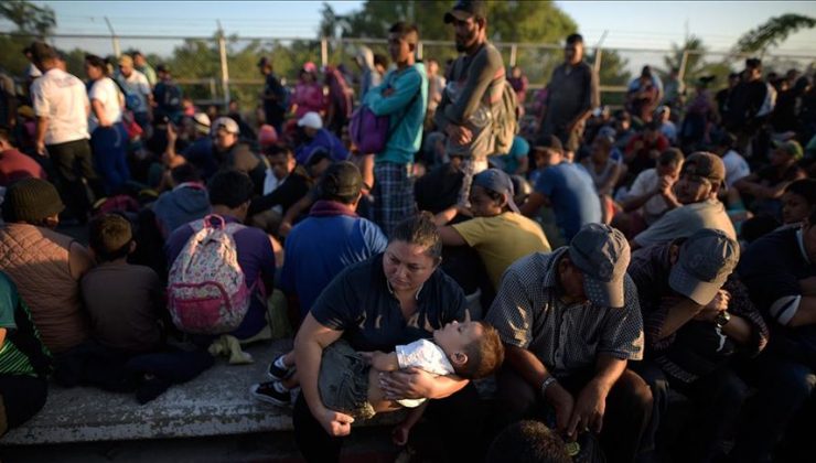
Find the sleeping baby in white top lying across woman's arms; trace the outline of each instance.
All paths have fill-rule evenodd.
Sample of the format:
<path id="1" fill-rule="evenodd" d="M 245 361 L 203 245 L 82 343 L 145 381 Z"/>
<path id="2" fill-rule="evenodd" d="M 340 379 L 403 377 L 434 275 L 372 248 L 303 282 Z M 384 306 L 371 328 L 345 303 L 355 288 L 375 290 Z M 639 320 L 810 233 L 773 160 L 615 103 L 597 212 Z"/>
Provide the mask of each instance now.
<path id="1" fill-rule="evenodd" d="M 345 341 L 323 351 L 318 387 L 326 408 L 354 418 L 402 407 L 416 408 L 395 432 L 395 442 L 405 444 L 410 428 L 419 421 L 426 399 L 388 400 L 379 387 L 380 372 L 416 367 L 438 376 L 459 375 L 477 379 L 492 375 L 504 359 L 504 346 L 496 330 L 485 322 L 452 322 L 433 331 L 433 340 L 398 345 L 395 352 L 355 352 Z"/>

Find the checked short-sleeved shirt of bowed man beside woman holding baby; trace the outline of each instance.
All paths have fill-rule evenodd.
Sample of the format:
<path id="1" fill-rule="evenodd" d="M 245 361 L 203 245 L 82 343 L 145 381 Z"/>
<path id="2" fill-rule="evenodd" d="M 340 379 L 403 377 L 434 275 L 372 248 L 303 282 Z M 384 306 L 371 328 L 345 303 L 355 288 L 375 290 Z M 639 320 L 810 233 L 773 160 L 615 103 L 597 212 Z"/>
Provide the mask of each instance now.
<path id="1" fill-rule="evenodd" d="M 599 354 L 640 360 L 643 321 L 632 279 L 624 279 L 623 308 L 567 304 L 560 299 L 557 263 L 568 249 L 534 252 L 513 263 L 487 322 L 505 344 L 530 351 L 557 377 L 594 365 Z"/>

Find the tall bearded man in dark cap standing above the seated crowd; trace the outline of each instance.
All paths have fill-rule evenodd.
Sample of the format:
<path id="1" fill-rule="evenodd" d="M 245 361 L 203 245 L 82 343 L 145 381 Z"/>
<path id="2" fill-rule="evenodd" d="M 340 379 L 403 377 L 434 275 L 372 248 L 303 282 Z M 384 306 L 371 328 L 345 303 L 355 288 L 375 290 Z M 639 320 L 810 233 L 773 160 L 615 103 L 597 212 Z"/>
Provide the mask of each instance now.
<path id="1" fill-rule="evenodd" d="M 494 154 L 492 114 L 501 103 L 505 68 L 502 54 L 487 42 L 487 4 L 460 0 L 444 13 L 453 24 L 457 51 L 463 53 L 451 65 L 448 85 L 433 115 L 433 122 L 448 134 L 448 154 L 464 157 L 464 181 L 460 205 L 468 204 L 473 175 L 487 169 Z M 501 153 L 500 153 L 501 154 Z"/>

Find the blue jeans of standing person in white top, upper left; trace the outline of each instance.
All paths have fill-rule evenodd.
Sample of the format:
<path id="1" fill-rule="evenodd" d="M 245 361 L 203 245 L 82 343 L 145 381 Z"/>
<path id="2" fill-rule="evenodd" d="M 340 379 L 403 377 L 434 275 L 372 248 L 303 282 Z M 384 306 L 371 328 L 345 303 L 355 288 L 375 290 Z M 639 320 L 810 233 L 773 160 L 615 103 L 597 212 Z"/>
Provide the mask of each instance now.
<path id="1" fill-rule="evenodd" d="M 111 127 L 97 127 L 90 134 L 94 164 L 103 177 L 105 192 L 115 193 L 130 180 L 127 162 L 128 132 L 121 122 Z"/>

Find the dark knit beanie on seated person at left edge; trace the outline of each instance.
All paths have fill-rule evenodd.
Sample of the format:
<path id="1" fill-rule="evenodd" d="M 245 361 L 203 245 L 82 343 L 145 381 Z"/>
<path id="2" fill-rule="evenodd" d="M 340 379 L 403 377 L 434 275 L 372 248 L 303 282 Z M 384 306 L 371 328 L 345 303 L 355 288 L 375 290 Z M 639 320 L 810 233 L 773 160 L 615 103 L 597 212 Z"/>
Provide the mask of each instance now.
<path id="1" fill-rule="evenodd" d="M 2 209 L 6 222 L 36 223 L 60 214 L 65 205 L 54 185 L 41 179 L 29 177 L 9 186 Z"/>

